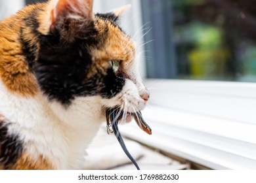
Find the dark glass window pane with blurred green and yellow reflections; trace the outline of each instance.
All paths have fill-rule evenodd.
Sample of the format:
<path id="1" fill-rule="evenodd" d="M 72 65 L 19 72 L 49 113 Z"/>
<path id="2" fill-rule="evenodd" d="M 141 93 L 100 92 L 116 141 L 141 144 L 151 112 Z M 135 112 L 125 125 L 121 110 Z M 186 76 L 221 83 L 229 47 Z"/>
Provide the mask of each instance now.
<path id="1" fill-rule="evenodd" d="M 141 3 L 148 78 L 256 81 L 255 0 Z"/>

